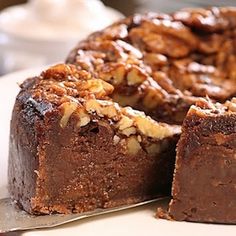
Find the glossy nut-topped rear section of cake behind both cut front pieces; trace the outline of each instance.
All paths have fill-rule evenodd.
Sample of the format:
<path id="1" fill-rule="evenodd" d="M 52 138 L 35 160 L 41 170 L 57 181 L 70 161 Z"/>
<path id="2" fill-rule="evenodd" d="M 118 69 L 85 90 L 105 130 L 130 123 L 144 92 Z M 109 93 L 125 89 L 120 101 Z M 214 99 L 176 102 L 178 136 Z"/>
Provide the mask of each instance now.
<path id="1" fill-rule="evenodd" d="M 119 104 L 181 124 L 199 97 L 236 95 L 235 42 L 236 8 L 137 14 L 79 42 L 67 62 L 111 83 Z"/>

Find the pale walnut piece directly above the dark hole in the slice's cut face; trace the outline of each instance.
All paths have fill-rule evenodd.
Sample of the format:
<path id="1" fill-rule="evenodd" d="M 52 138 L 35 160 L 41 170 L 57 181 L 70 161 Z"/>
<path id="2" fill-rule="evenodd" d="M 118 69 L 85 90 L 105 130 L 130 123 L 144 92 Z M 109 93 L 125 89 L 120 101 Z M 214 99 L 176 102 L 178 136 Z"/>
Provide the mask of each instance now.
<path id="1" fill-rule="evenodd" d="M 108 117 L 114 120 L 119 119 L 119 106 L 111 101 L 90 99 L 85 102 L 85 109 L 88 113 L 95 112 L 100 117 Z"/>

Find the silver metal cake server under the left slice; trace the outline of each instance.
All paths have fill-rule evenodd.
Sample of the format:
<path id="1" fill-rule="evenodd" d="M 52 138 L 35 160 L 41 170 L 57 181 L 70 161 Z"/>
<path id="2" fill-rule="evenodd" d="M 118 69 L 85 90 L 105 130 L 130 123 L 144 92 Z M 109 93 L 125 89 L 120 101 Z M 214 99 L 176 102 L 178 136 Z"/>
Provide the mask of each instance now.
<path id="1" fill-rule="evenodd" d="M 97 216 L 105 213 L 111 213 L 137 206 L 142 206 L 144 204 L 148 204 L 162 199 L 165 198 L 162 197 L 122 207 L 97 209 L 94 211 L 79 214 L 53 214 L 34 216 L 16 207 L 16 205 L 12 203 L 12 200 L 10 198 L 4 198 L 0 199 L 0 233 L 12 232 L 17 230 L 51 228 L 91 216 Z"/>

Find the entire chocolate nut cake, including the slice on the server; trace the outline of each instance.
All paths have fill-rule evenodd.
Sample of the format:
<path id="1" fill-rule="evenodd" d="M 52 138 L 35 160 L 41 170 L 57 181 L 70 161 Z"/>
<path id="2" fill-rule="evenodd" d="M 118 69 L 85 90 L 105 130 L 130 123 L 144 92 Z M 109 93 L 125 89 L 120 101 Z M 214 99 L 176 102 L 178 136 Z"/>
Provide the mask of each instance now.
<path id="1" fill-rule="evenodd" d="M 24 210 L 170 195 L 179 125 L 197 102 L 184 120 L 169 214 L 235 223 L 234 113 L 212 105 L 236 96 L 235 8 L 137 14 L 81 41 L 66 63 L 27 79 L 15 102 L 9 190 Z M 212 103 L 199 102 L 206 96 Z"/>

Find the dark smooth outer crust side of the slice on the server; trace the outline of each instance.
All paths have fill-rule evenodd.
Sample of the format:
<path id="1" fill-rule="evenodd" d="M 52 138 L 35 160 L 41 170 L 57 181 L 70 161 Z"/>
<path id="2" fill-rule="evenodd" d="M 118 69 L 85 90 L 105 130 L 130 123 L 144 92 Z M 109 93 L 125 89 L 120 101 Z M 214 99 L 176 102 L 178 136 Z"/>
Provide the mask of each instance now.
<path id="1" fill-rule="evenodd" d="M 43 139 L 43 113 L 50 110 L 44 103 L 39 107 L 28 92 L 36 78 L 28 79 L 21 86 L 12 112 L 9 159 L 8 186 L 13 200 L 26 211 L 31 211 L 31 198 L 35 195 L 37 169 L 39 165 L 38 147 Z"/>

